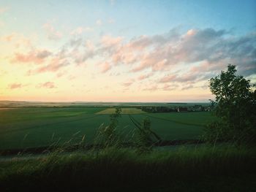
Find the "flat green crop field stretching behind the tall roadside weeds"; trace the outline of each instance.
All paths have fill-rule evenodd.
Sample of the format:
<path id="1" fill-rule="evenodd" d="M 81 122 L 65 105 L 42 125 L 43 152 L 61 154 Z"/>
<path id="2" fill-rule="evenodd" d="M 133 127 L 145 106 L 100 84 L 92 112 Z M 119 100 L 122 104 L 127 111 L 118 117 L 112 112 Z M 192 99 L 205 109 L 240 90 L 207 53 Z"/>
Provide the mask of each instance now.
<path id="1" fill-rule="evenodd" d="M 83 138 L 91 144 L 99 126 L 110 122 L 109 107 L 18 107 L 0 110 L 0 150 L 76 144 Z M 146 113 L 123 108 L 118 133 L 129 140 L 137 130 L 129 118 L 141 122 L 148 117 L 151 128 L 165 140 L 198 139 L 210 112 Z"/>

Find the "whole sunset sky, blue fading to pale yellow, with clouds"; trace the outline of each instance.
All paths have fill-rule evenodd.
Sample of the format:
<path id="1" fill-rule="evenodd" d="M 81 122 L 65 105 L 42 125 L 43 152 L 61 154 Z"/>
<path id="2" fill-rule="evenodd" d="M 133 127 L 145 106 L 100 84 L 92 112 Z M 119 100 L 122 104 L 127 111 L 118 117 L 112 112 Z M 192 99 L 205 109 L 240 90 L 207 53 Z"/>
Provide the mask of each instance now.
<path id="1" fill-rule="evenodd" d="M 256 1 L 0 0 L 0 100 L 208 101 L 256 83 Z"/>

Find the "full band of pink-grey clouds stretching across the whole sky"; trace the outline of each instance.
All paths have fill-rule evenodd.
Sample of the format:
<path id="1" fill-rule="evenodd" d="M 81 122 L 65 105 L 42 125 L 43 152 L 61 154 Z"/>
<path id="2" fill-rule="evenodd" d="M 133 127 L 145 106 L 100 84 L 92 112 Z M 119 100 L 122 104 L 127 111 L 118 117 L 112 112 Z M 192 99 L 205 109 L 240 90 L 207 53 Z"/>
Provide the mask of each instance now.
<path id="1" fill-rule="evenodd" d="M 98 72 L 109 75 L 136 73 L 141 83 L 146 79 L 159 84 L 159 90 L 171 90 L 166 84 L 205 81 L 213 77 L 227 64 L 238 66 L 238 72 L 245 76 L 256 71 L 256 33 L 234 37 L 225 30 L 214 28 L 189 29 L 181 33 L 173 28 L 165 34 L 140 36 L 125 39 L 120 36 L 104 35 L 98 41 L 85 39 L 83 28 L 74 31 L 75 36 L 54 51 L 37 47 L 29 52 L 16 52 L 12 61 L 39 64 L 29 69 L 27 74 L 56 72 L 61 77 L 65 66 L 80 66 L 96 58 Z M 6 42 L 14 42 L 17 35 L 1 37 Z M 31 46 L 33 47 L 33 46 Z M 57 74 L 58 73 L 58 74 Z M 68 76 L 67 76 L 68 77 Z M 121 83 L 129 87 L 134 80 Z M 151 85 L 154 87 L 154 85 Z M 150 90 L 149 86 L 146 86 Z M 156 86 L 155 86 L 156 87 Z M 182 86 L 181 86 L 182 88 Z M 152 89 L 153 90 L 153 89 Z"/>

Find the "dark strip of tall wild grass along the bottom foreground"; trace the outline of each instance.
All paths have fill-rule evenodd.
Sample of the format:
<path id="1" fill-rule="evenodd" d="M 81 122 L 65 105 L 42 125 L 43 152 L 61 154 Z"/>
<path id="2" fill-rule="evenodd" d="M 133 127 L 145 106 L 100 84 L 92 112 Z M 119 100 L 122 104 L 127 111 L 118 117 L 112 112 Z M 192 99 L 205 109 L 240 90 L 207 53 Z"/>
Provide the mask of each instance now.
<path id="1" fill-rule="evenodd" d="M 0 163 L 1 191 L 253 191 L 255 147 L 108 148 Z"/>

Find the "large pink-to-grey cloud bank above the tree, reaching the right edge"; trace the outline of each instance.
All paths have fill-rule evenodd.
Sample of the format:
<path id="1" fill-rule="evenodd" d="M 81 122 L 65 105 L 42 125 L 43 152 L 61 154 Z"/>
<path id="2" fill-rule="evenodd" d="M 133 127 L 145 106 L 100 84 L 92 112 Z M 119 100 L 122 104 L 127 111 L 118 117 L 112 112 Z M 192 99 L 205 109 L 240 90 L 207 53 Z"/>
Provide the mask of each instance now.
<path id="1" fill-rule="evenodd" d="M 225 63 L 241 65 L 241 59 L 247 58 L 244 65 L 252 68 L 255 61 L 255 34 L 246 37 L 230 37 L 225 30 L 190 29 L 180 34 L 176 29 L 167 34 L 152 37 L 138 37 L 124 43 L 119 37 L 104 37 L 105 53 L 114 64 L 132 64 L 132 72 L 144 69 L 152 71 L 169 70 L 178 64 L 196 62 Z M 109 39 L 109 40 L 108 40 Z M 254 67 L 255 68 L 255 67 Z M 244 68 L 246 69 L 246 68 Z"/>

